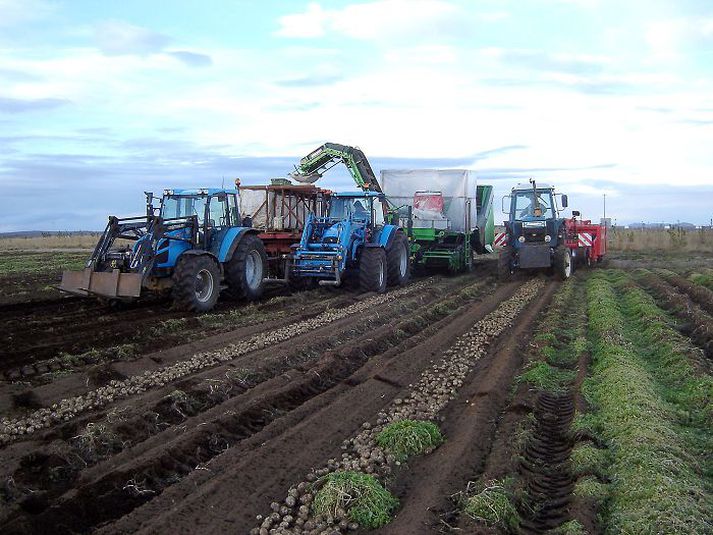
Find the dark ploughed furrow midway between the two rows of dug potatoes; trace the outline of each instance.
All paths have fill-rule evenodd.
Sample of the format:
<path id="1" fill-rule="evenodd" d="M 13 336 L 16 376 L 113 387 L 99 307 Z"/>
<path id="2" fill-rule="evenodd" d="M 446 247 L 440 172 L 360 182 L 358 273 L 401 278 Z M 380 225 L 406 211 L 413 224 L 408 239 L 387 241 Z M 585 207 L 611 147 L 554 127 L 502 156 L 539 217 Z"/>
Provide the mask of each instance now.
<path id="1" fill-rule="evenodd" d="M 161 436 L 154 437 L 145 444 L 133 447 L 130 451 L 119 455 L 115 461 L 107 461 L 98 465 L 95 470 L 90 470 L 89 473 L 82 476 L 81 481 L 91 478 L 95 478 L 95 480 L 82 486 L 83 490 L 73 495 L 66 506 L 61 507 L 60 517 L 77 515 L 72 523 L 75 524 L 76 521 L 76 525 L 82 526 L 82 529 L 89 529 L 96 522 L 126 514 L 136 506 L 160 494 L 167 485 L 179 481 L 199 464 L 208 462 L 226 448 L 260 432 L 265 426 L 299 407 L 307 400 L 333 388 L 359 369 L 371 356 L 392 347 L 408 345 L 409 337 L 422 332 L 423 329 L 419 325 L 426 325 L 448 315 L 448 311 L 439 307 L 438 303 L 449 302 L 451 306 L 449 310 L 453 309 L 454 303 L 467 305 L 468 301 L 473 300 L 474 295 L 468 292 L 463 293 L 461 285 L 462 282 L 460 284 L 449 282 L 445 285 L 461 290 L 460 293 L 454 295 L 444 296 L 443 292 L 434 291 L 430 299 L 427 295 L 420 295 L 412 299 L 412 304 L 409 304 L 408 300 L 396 303 L 392 306 L 394 312 L 400 310 L 402 313 L 404 307 L 410 307 L 413 310 L 413 305 L 416 305 L 417 302 L 420 309 L 418 313 L 412 314 L 408 319 L 404 319 L 406 316 L 401 313 L 394 314 L 395 319 L 391 322 L 371 331 L 354 330 L 352 336 L 356 338 L 352 349 L 328 352 L 313 367 L 306 366 L 302 369 L 288 370 L 279 377 L 268 380 L 234 399 L 190 418 L 185 422 L 185 427 L 191 431 L 181 434 L 178 438 L 172 437 L 170 430 L 165 431 Z M 475 286 L 481 285 L 482 283 L 478 283 Z M 426 306 L 429 301 L 435 302 L 436 306 L 430 308 Z M 389 317 L 389 314 L 385 314 L 385 317 Z M 348 339 L 349 336 L 346 335 L 342 342 L 344 343 Z M 129 425 L 129 427 L 131 426 Z M 166 442 L 167 440 L 168 442 Z M 154 449 L 159 450 L 159 453 L 156 453 Z M 126 468 L 121 468 L 122 465 L 117 463 L 124 463 Z M 107 467 L 111 467 L 110 474 L 103 472 L 107 470 Z M 103 475 L 92 476 L 92 474 Z M 17 479 L 20 479 L 19 476 L 20 474 L 15 474 Z M 140 481 L 139 487 L 145 492 L 139 492 L 129 485 L 129 492 L 134 489 L 135 495 L 127 498 L 124 496 L 127 481 Z M 69 483 L 73 482 L 68 481 L 64 487 Z M 55 489 L 54 493 L 50 494 L 56 494 L 57 490 L 60 489 Z M 82 518 L 87 515 L 85 507 L 81 504 L 89 500 L 90 496 L 101 503 L 93 508 L 94 512 L 90 515 L 93 520 L 91 524 L 87 524 L 82 521 Z M 113 509 L 108 506 L 112 500 L 119 504 Z M 101 505 L 104 503 L 106 503 L 106 507 Z M 106 517 L 102 511 L 106 513 L 112 511 L 114 516 Z M 56 514 L 56 508 L 47 509 L 35 519 L 28 519 L 24 514 L 20 514 L 11 526 L 17 526 L 17 529 L 21 531 L 28 529 L 28 526 L 33 526 L 29 527 L 32 530 L 41 529 L 40 526 L 49 525 L 48 522 L 61 524 L 61 518 L 57 518 Z"/>

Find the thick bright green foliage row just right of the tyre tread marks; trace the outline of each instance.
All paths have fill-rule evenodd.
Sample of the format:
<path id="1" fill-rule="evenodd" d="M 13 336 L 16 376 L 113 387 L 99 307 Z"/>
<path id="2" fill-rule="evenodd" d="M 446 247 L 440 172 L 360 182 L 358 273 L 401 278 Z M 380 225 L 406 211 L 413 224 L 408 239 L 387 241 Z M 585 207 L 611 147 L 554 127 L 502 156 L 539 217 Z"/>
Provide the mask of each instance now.
<path id="1" fill-rule="evenodd" d="M 615 290 L 629 294 L 623 303 Z M 593 366 L 585 395 L 594 412 L 586 421 L 608 443 L 612 457 L 606 529 L 706 533 L 713 503 L 701 463 L 687 448 L 677 408 L 662 397 L 658 377 L 637 352 L 636 343 L 642 340 L 633 340 L 626 328 L 631 323 L 627 314 L 645 310 L 635 292 L 622 272 L 600 272 L 588 282 Z M 661 375 L 676 372 L 675 361 L 662 359 L 658 365 Z M 579 492 L 604 499 L 605 489 L 593 482 L 582 480 Z"/>

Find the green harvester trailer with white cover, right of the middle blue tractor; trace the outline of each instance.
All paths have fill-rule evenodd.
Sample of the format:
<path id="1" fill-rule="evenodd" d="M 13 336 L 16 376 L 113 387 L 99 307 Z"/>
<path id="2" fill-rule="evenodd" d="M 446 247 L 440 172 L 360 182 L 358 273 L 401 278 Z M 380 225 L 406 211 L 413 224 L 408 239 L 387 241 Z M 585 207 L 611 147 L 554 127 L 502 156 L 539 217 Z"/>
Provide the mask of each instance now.
<path id="1" fill-rule="evenodd" d="M 407 228 L 414 266 L 461 272 L 492 251 L 493 187 L 466 169 L 383 170 L 381 185 Z"/>

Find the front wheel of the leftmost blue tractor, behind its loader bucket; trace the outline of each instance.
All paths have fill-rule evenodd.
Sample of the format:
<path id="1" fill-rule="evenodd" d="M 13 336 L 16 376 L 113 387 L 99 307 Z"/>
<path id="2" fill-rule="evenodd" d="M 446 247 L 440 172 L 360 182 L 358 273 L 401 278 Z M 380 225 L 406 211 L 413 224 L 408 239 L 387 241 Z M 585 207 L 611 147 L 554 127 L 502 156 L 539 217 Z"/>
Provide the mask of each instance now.
<path id="1" fill-rule="evenodd" d="M 184 255 L 173 272 L 173 302 L 182 310 L 207 312 L 220 293 L 220 269 L 207 255 Z"/>

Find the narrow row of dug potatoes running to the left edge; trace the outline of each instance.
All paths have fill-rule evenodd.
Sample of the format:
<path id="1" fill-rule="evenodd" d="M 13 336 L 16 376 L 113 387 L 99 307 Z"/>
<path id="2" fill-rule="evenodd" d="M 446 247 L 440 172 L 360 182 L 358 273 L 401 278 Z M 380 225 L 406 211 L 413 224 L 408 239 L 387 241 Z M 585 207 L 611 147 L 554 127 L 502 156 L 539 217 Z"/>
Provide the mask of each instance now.
<path id="1" fill-rule="evenodd" d="M 162 387 L 199 370 L 285 342 L 347 316 L 384 305 L 400 299 L 404 295 L 423 290 L 432 282 L 432 280 L 428 279 L 387 294 L 370 296 L 347 307 L 328 309 L 314 318 L 292 323 L 271 332 L 258 333 L 246 340 L 214 351 L 196 353 L 189 359 L 164 366 L 156 371 L 145 371 L 143 374 L 134 375 L 124 380 L 113 380 L 106 386 L 91 390 L 80 396 L 62 399 L 49 408 L 38 409 L 22 418 L 3 418 L 0 420 L 0 444 L 8 443 L 17 437 L 32 434 L 43 428 L 49 428 L 59 422 L 69 421 L 78 414 L 104 407 L 115 400 L 125 399 L 153 388 Z"/>

